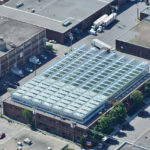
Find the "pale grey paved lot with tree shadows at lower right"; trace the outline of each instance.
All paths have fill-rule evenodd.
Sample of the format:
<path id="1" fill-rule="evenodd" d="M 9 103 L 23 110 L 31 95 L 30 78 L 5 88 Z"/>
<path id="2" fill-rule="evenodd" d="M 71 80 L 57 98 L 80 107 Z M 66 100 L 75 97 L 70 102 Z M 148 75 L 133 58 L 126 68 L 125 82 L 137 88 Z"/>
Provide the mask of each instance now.
<path id="1" fill-rule="evenodd" d="M 147 99 L 147 106 L 143 109 L 143 113 L 138 113 L 131 117 L 131 121 L 124 126 L 118 128 L 118 132 L 113 136 L 118 143 L 110 145 L 108 150 L 114 150 L 121 146 L 124 142 L 139 145 L 146 149 L 150 149 L 150 106 L 149 100 Z M 128 149 L 128 146 L 124 148 Z M 119 149 L 125 150 L 125 149 Z M 139 149 L 136 149 L 139 150 Z"/>

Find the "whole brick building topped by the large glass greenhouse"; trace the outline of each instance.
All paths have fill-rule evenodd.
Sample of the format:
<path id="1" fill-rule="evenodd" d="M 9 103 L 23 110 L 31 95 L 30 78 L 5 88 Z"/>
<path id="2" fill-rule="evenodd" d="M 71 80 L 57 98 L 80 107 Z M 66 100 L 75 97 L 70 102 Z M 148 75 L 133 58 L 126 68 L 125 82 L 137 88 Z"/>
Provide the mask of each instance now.
<path id="1" fill-rule="evenodd" d="M 4 114 L 25 122 L 27 108 L 38 128 L 79 141 L 99 112 L 148 71 L 145 62 L 81 45 L 11 93 Z"/>

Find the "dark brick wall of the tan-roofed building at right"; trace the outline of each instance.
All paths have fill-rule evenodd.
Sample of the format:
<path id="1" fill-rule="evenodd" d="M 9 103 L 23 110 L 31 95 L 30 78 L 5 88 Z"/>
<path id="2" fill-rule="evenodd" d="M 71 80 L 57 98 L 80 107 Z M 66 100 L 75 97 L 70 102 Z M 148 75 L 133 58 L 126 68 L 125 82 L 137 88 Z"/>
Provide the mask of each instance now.
<path id="1" fill-rule="evenodd" d="M 150 48 L 116 40 L 116 49 L 124 53 L 150 59 Z"/>

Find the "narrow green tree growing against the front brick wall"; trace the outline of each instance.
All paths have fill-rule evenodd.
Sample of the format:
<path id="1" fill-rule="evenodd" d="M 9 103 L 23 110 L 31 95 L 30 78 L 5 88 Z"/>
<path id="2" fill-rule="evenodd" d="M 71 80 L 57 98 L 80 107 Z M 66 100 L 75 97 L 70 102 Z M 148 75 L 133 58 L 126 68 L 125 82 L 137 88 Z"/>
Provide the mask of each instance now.
<path id="1" fill-rule="evenodd" d="M 31 127 L 35 127 L 35 122 L 33 120 L 31 111 L 29 111 L 28 109 L 24 108 L 22 110 L 22 113 L 23 113 L 23 116 L 25 117 L 27 123 L 29 123 L 31 125 Z"/>

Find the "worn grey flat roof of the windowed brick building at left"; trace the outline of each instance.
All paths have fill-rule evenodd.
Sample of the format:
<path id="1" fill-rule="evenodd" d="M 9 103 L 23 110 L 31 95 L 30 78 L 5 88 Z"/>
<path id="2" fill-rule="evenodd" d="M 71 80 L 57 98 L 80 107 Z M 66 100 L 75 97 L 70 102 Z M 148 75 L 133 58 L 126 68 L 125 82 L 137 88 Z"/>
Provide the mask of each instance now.
<path id="1" fill-rule="evenodd" d="M 0 16 L 0 37 L 6 42 L 7 50 L 13 49 L 11 45 L 20 46 L 43 30 L 45 29 Z M 6 52 L 0 51 L 0 56 Z"/>

